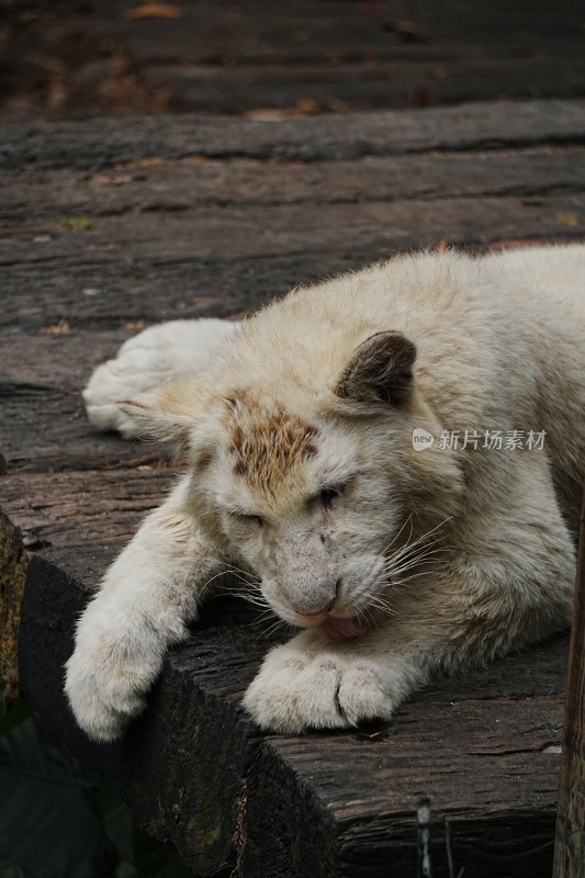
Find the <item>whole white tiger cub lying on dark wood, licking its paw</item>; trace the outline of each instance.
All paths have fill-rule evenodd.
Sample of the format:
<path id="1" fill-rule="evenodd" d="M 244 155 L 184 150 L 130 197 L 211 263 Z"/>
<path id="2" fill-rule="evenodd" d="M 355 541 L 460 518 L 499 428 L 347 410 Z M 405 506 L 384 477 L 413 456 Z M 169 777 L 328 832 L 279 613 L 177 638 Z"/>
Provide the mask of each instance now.
<path id="1" fill-rule="evenodd" d="M 143 709 L 226 565 L 303 629 L 244 699 L 275 731 L 387 719 L 570 622 L 585 246 L 402 256 L 237 326 L 155 327 L 86 402 L 187 463 L 78 624 L 66 689 L 93 739 Z"/>

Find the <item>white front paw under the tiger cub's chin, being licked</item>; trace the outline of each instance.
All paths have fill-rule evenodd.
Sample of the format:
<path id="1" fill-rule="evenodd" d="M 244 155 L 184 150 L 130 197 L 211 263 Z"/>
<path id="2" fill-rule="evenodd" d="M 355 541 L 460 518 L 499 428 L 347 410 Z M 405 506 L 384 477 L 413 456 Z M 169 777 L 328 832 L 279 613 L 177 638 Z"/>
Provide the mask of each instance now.
<path id="1" fill-rule="evenodd" d="M 301 634 L 268 654 L 244 706 L 261 728 L 295 733 L 390 719 L 402 697 L 401 675 L 379 658 L 315 648 Z"/>

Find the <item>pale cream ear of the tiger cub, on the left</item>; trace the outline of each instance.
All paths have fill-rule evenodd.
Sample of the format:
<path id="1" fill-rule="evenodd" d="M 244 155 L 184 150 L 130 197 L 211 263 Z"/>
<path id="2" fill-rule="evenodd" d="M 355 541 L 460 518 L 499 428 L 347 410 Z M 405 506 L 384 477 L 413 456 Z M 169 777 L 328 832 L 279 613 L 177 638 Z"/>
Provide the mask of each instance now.
<path id="1" fill-rule="evenodd" d="M 126 418 L 126 436 L 164 444 L 184 460 L 193 448 L 194 434 L 201 432 L 205 399 L 199 382 L 181 375 L 157 391 L 122 399 L 117 405 Z"/>

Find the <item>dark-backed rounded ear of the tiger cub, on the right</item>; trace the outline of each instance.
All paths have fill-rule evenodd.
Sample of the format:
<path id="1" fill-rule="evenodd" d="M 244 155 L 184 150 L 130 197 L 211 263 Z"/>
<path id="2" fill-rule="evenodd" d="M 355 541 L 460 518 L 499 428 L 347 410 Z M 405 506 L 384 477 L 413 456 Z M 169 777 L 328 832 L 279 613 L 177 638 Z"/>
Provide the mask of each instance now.
<path id="1" fill-rule="evenodd" d="M 334 379 L 341 399 L 400 405 L 414 386 L 416 347 L 402 333 L 375 333 L 356 348 Z"/>

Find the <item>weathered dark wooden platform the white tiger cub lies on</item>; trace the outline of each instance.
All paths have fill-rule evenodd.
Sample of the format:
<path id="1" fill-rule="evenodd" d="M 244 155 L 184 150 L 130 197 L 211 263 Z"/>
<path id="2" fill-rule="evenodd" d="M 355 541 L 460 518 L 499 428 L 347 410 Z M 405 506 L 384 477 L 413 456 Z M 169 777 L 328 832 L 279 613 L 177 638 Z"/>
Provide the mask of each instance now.
<path id="1" fill-rule="evenodd" d="M 549 876 L 565 638 L 342 733 L 244 716 L 267 639 L 237 600 L 173 650 L 117 746 L 83 739 L 60 687 L 89 589 L 172 480 L 89 426 L 90 370 L 155 320 L 236 316 L 396 250 L 583 238 L 585 102 L 3 122 L 0 184 L 0 500 L 30 552 L 20 665 L 45 722 L 195 875 L 409 878 L 424 791 L 434 876 Z"/>

